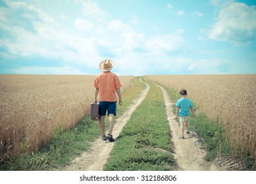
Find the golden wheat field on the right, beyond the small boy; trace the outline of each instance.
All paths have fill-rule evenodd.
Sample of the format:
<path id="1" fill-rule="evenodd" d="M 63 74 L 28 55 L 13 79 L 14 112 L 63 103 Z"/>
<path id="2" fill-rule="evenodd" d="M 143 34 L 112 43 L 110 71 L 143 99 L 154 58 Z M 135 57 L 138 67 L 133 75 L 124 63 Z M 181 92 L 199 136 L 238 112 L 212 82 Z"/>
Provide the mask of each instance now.
<path id="1" fill-rule="evenodd" d="M 220 120 L 226 139 L 239 152 L 256 158 L 256 75 L 147 76 L 188 98 L 212 120 Z M 174 102 L 176 103 L 176 102 Z"/>

